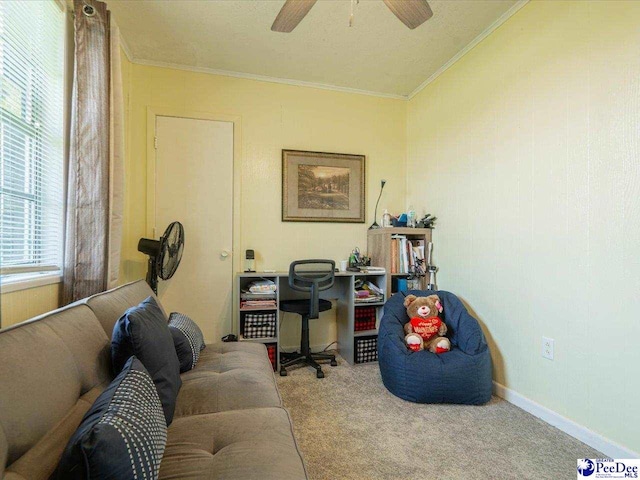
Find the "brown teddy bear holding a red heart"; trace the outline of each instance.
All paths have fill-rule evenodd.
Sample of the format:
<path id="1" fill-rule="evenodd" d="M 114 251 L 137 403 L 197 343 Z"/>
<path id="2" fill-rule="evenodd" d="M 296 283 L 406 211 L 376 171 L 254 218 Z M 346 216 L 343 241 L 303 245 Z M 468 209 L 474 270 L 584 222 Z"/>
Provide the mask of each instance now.
<path id="1" fill-rule="evenodd" d="M 451 350 L 451 343 L 445 337 L 447 325 L 438 316 L 443 310 L 440 297 L 407 295 L 404 306 L 410 319 L 404 326 L 405 343 L 410 350 L 426 349 L 433 353 Z"/>

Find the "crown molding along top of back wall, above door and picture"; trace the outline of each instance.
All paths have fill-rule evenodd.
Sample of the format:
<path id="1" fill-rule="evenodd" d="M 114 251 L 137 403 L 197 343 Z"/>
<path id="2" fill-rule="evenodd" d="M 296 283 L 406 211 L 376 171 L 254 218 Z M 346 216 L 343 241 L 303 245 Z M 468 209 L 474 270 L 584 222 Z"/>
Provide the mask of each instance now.
<path id="1" fill-rule="evenodd" d="M 133 58 L 131 60 L 132 63 L 137 65 L 146 65 L 150 67 L 160 67 L 160 68 L 171 68 L 174 70 L 184 70 L 187 72 L 196 72 L 196 73 L 208 73 L 211 75 L 219 75 L 223 77 L 234 77 L 234 78 L 243 78 L 246 80 L 256 80 L 259 82 L 268 82 L 268 83 L 280 83 L 284 85 L 294 85 L 297 87 L 307 87 L 307 88 L 318 88 L 321 90 L 332 90 L 335 92 L 343 92 L 343 93 L 355 93 L 358 95 L 368 95 L 371 97 L 379 97 L 379 98 L 390 98 L 395 100 L 406 100 L 406 95 L 396 95 L 393 93 L 382 93 L 382 92 L 372 92 L 369 90 L 360 90 L 358 88 L 350 88 L 350 87 L 340 87 L 337 85 L 329 85 L 325 83 L 315 83 L 315 82 L 305 82 L 304 80 L 293 80 L 289 78 L 278 78 L 278 77 L 269 77 L 266 75 L 256 75 L 253 73 L 243 73 L 243 72 L 233 72 L 229 70 L 218 70 L 216 68 L 207 68 L 207 67 L 193 67 L 190 65 L 183 65 L 180 63 L 169 63 L 169 62 L 157 62 L 154 60 L 144 60 L 139 58 Z"/>

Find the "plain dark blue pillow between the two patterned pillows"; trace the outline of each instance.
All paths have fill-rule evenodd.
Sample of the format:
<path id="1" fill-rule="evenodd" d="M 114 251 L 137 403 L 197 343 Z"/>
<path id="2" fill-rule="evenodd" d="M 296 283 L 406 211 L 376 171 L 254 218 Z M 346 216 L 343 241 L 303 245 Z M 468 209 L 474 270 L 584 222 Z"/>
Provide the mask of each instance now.
<path id="1" fill-rule="evenodd" d="M 116 374 L 132 355 L 149 371 L 170 425 L 182 386 L 180 362 L 167 318 L 153 297 L 124 312 L 113 327 L 111 361 Z"/>

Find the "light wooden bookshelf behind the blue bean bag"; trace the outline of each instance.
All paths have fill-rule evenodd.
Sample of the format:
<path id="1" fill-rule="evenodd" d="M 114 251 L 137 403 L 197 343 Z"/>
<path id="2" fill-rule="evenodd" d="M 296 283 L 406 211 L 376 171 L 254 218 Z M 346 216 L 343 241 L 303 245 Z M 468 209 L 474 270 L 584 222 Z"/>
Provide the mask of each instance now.
<path id="1" fill-rule="evenodd" d="M 393 246 L 393 238 L 406 238 L 414 246 L 423 245 L 426 255 L 427 245 L 431 241 L 431 232 L 431 228 L 408 227 L 376 228 L 368 231 L 367 253 L 371 257 L 371 264 L 384 267 L 388 275 L 386 298 L 390 298 L 397 291 L 399 278 L 409 277 L 409 273 L 402 268 L 404 265 L 400 265 L 399 260 L 394 261 L 394 257 L 399 257 L 399 253 L 396 254 L 398 245 Z M 421 289 L 426 288 L 427 281 L 426 276 L 420 278 Z"/>

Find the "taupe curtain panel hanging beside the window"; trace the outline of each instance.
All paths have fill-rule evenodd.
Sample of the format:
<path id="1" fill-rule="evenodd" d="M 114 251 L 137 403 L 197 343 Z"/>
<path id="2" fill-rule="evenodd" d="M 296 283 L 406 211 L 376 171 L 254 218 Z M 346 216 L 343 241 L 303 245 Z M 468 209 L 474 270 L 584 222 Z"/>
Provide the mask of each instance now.
<path id="1" fill-rule="evenodd" d="M 116 31 L 114 46 L 109 11 L 102 2 L 74 0 L 74 14 L 64 303 L 117 283 L 122 234 L 124 136 L 118 35 Z"/>

